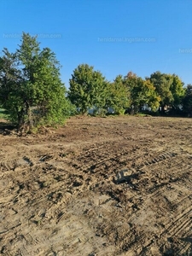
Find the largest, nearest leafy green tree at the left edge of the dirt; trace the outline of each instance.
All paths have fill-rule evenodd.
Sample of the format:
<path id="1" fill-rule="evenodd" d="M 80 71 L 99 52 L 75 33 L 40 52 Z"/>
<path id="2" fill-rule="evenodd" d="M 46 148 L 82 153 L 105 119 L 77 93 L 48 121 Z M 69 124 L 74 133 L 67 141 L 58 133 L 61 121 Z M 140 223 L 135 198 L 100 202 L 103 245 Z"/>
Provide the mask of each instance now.
<path id="1" fill-rule="evenodd" d="M 60 79 L 60 63 L 37 37 L 23 33 L 15 54 L 3 50 L 0 59 L 0 102 L 18 128 L 61 124 L 69 106 Z"/>

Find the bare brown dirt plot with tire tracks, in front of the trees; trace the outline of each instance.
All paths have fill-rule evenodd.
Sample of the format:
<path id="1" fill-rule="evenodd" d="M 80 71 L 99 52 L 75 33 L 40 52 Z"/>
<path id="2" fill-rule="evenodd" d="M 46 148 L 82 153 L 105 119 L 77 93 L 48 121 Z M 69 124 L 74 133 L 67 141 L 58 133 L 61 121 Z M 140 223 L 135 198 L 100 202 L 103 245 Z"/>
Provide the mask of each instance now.
<path id="1" fill-rule="evenodd" d="M 0 255 L 192 255 L 192 119 L 0 135 Z"/>

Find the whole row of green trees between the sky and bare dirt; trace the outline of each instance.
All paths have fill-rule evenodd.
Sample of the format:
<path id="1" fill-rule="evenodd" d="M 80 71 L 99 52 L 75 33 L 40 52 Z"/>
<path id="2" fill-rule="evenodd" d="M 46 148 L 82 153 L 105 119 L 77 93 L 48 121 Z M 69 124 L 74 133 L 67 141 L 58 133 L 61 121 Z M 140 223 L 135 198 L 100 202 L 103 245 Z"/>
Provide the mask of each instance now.
<path id="1" fill-rule="evenodd" d="M 155 72 L 142 79 L 136 73 L 108 81 L 88 64 L 73 70 L 69 89 L 61 82 L 61 65 L 49 48 L 40 49 L 37 37 L 23 32 L 15 53 L 0 56 L 0 106 L 18 129 L 63 124 L 74 113 L 152 112 L 192 114 L 192 85 L 184 87 L 176 74 Z"/>

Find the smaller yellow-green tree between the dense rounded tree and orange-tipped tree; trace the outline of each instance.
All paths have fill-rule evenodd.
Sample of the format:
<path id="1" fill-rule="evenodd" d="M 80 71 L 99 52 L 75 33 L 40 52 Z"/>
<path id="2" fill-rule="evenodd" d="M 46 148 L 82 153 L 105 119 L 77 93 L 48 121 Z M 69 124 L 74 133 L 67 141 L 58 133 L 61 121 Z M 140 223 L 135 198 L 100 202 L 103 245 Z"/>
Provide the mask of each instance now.
<path id="1" fill-rule="evenodd" d="M 123 114 L 130 107 L 130 93 L 121 75 L 113 83 L 108 82 L 106 108 L 113 108 L 114 113 Z"/>

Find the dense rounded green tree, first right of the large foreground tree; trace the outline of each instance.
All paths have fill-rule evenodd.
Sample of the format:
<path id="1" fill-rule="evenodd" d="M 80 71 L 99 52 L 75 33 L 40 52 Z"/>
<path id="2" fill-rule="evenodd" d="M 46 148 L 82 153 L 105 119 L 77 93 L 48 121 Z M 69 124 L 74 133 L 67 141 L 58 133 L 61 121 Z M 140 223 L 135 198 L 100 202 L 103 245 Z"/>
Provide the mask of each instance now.
<path id="1" fill-rule="evenodd" d="M 104 108 L 107 81 L 94 67 L 87 64 L 76 67 L 69 84 L 68 98 L 80 113 L 87 113 L 89 108 Z"/>

